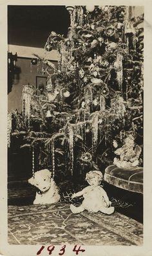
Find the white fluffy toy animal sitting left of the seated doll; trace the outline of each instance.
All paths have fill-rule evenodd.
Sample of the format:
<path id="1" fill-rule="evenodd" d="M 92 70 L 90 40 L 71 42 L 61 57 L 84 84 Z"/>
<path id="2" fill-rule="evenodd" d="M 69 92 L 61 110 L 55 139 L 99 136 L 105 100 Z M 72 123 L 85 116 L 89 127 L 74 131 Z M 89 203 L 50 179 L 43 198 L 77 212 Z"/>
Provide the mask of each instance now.
<path id="1" fill-rule="evenodd" d="M 35 172 L 28 182 L 40 190 L 40 193 L 36 193 L 33 204 L 53 204 L 60 200 L 59 190 L 48 169 Z"/>

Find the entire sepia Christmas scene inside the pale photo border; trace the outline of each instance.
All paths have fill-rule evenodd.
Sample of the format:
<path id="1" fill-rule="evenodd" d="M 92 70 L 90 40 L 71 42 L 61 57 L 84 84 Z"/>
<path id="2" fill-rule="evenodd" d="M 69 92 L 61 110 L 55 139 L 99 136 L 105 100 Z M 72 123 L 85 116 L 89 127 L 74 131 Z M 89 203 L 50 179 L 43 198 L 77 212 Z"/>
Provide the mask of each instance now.
<path id="1" fill-rule="evenodd" d="M 144 7 L 7 8 L 8 244 L 142 246 Z"/>

